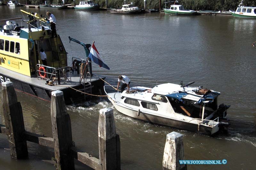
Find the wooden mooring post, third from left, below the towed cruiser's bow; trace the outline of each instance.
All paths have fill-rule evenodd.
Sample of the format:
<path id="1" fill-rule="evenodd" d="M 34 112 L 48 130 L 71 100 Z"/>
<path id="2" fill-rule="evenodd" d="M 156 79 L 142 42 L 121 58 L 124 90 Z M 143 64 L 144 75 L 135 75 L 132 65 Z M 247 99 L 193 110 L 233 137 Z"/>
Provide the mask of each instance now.
<path id="1" fill-rule="evenodd" d="M 121 169 L 120 138 L 116 134 L 113 109 L 100 109 L 99 125 L 99 155 L 100 169 Z"/>

